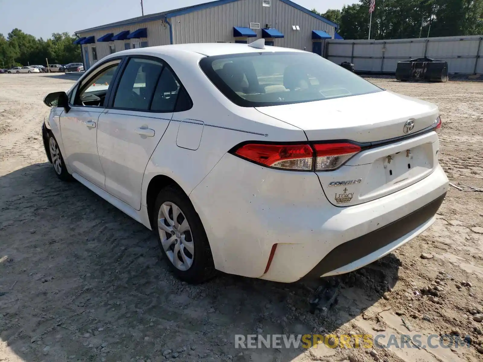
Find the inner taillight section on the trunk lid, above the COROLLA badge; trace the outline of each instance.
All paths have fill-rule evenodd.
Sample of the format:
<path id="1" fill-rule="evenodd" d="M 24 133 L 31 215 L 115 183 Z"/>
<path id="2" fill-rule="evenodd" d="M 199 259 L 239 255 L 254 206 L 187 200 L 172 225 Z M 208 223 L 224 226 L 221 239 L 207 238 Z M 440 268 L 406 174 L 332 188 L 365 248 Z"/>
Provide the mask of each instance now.
<path id="1" fill-rule="evenodd" d="M 315 171 L 330 171 L 341 167 L 361 148 L 352 143 L 319 143 L 313 145 L 317 159 Z"/>

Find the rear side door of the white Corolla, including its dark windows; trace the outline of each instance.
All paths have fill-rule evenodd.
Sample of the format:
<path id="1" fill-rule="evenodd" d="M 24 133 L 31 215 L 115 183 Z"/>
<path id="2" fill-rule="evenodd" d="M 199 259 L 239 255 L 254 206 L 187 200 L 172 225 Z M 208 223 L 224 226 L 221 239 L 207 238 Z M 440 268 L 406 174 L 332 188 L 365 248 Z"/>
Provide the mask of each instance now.
<path id="1" fill-rule="evenodd" d="M 106 191 L 141 209 L 146 165 L 168 127 L 181 83 L 159 58 L 126 61 L 109 108 L 99 116 L 98 150 Z"/>

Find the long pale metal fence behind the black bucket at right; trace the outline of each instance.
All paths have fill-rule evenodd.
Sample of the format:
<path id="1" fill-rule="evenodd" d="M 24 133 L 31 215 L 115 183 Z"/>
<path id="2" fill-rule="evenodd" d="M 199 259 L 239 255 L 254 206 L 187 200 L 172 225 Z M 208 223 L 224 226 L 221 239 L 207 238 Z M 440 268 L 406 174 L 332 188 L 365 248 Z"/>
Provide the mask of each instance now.
<path id="1" fill-rule="evenodd" d="M 450 73 L 483 73 L 483 36 L 394 40 L 329 40 L 327 58 L 355 70 L 395 72 L 398 61 L 428 57 L 448 62 Z M 475 68 L 476 65 L 476 68 Z"/>

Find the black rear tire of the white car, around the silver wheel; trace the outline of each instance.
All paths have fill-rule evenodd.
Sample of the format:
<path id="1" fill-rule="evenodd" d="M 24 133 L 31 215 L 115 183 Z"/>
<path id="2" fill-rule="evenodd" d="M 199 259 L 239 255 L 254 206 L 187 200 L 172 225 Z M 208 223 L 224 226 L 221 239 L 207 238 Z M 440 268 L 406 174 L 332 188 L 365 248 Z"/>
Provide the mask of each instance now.
<path id="1" fill-rule="evenodd" d="M 161 235 L 157 226 L 158 213 L 161 205 L 165 202 L 174 203 L 178 206 L 189 224 L 191 240 L 194 246 L 194 255 L 192 255 L 193 262 L 187 270 L 180 270 L 173 265 L 161 243 Z M 153 211 L 153 230 L 158 237 L 161 255 L 167 261 L 170 271 L 176 276 L 176 278 L 190 284 L 202 283 L 213 278 L 216 275 L 216 269 L 214 268 L 210 243 L 208 242 L 208 237 L 206 236 L 203 224 L 199 219 L 199 215 L 191 204 L 188 196 L 186 196 L 178 187 L 172 185 L 167 186 L 157 195 Z M 176 255 L 176 257 L 178 257 L 178 255 Z"/>

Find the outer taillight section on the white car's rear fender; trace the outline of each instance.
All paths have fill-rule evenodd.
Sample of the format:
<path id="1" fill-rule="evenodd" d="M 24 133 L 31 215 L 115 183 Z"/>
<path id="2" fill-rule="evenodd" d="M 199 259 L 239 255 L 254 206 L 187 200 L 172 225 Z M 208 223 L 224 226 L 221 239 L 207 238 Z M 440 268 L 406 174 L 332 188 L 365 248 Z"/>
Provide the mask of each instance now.
<path id="1" fill-rule="evenodd" d="M 304 171 L 313 169 L 313 150 L 308 144 L 249 143 L 241 146 L 235 154 L 268 167 Z"/>

